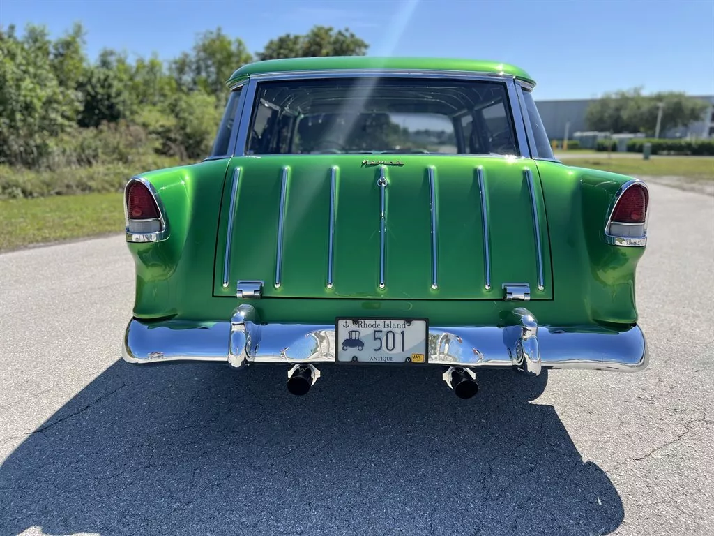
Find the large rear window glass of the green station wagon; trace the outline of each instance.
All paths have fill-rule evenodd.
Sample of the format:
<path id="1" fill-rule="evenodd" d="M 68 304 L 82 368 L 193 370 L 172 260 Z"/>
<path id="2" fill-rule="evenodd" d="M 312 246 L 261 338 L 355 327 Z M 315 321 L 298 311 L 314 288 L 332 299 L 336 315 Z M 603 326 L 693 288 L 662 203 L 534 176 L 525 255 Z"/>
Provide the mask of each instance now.
<path id="1" fill-rule="evenodd" d="M 247 154 L 517 154 L 505 84 L 339 78 L 258 85 Z"/>

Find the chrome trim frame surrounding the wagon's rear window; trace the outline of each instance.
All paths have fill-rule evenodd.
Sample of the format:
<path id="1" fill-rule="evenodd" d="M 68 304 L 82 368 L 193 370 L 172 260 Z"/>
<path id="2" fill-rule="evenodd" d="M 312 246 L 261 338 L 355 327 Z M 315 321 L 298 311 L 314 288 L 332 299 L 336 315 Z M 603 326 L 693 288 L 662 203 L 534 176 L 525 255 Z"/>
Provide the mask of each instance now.
<path id="1" fill-rule="evenodd" d="M 523 118 L 521 107 L 523 104 L 518 99 L 518 90 L 516 88 L 516 76 L 510 74 L 483 73 L 474 71 L 437 71 L 437 70 L 411 70 L 411 69 L 332 69 L 322 71 L 286 71 L 281 73 L 260 73 L 253 74 L 248 79 L 243 79 L 238 85 L 243 84 L 244 89 L 241 93 L 241 103 L 237 106 L 236 121 L 238 124 L 238 132 L 235 142 L 233 142 L 234 157 L 263 157 L 270 155 L 249 155 L 247 154 L 246 144 L 250 134 L 250 124 L 253 120 L 253 103 L 256 98 L 256 90 L 258 83 L 264 81 L 281 81 L 281 80 L 301 80 L 301 79 L 331 79 L 331 78 L 422 78 L 422 79 L 460 79 L 474 81 L 490 81 L 506 85 L 506 93 L 508 94 L 508 108 L 511 110 L 513 119 L 513 128 L 516 131 L 517 152 L 521 158 L 533 158 L 528 144 L 528 134 L 526 133 L 526 121 Z M 238 113 L 240 115 L 238 115 Z M 232 134 L 232 133 L 231 133 Z M 285 156 L 285 155 L 281 155 Z M 310 156 L 291 154 L 291 157 Z M 463 156 L 463 155 L 462 155 Z M 468 155 L 466 155 L 468 156 Z M 485 157 L 492 155 L 473 154 L 473 157 Z M 512 158 L 511 155 L 498 155 L 497 158 Z"/>

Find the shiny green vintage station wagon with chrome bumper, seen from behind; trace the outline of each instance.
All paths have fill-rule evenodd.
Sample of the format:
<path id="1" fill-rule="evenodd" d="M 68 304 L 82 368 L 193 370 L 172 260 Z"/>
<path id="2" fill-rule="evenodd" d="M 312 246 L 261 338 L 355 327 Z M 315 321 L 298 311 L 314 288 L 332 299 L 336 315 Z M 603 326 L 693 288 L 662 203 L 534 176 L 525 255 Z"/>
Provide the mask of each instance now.
<path id="1" fill-rule="evenodd" d="M 637 371 L 648 189 L 553 157 L 535 83 L 491 61 L 260 61 L 203 162 L 126 184 L 124 359 Z"/>

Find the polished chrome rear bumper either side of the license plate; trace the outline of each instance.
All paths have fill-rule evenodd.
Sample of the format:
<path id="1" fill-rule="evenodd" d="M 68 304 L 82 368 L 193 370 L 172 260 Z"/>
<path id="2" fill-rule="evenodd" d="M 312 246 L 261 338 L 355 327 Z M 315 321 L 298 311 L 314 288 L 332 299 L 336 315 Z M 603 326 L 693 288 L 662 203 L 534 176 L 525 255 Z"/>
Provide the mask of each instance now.
<path id="1" fill-rule="evenodd" d="M 261 324 L 243 304 L 231 322 L 145 324 L 126 327 L 124 360 L 302 364 L 335 362 L 334 324 Z M 516 367 L 537 375 L 541 367 L 635 372 L 647 367 L 647 344 L 637 325 L 617 331 L 600 326 L 538 326 L 527 309 L 514 309 L 503 327 L 429 327 L 428 364 L 448 367 Z"/>

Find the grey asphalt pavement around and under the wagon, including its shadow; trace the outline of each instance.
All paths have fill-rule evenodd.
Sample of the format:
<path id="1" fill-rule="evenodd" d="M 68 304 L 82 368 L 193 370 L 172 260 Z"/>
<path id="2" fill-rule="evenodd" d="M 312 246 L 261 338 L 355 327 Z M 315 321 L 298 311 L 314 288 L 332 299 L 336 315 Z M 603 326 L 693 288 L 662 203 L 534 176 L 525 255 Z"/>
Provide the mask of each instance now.
<path id="1" fill-rule="evenodd" d="M 0 535 L 712 535 L 714 198 L 650 187 L 650 367 L 480 372 L 120 359 L 123 237 L 0 255 Z"/>

